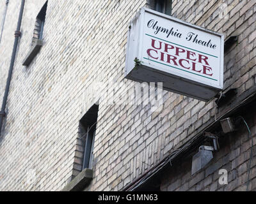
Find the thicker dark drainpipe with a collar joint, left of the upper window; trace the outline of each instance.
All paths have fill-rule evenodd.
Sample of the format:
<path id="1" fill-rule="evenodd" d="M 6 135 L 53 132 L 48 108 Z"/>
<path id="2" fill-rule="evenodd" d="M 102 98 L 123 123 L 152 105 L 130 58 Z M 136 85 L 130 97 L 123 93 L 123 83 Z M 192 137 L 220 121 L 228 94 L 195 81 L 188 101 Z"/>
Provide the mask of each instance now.
<path id="1" fill-rule="evenodd" d="M 20 33 L 20 25 L 21 25 L 23 10 L 24 10 L 24 4 L 25 4 L 25 0 L 22 0 L 21 5 L 20 5 L 20 14 L 19 14 L 17 30 L 15 31 L 15 41 L 14 41 L 13 50 L 12 50 L 12 59 L 11 59 L 11 62 L 10 62 L 10 69 L 9 69 L 8 78 L 7 78 L 7 81 L 6 81 L 6 87 L 5 87 L 5 91 L 4 91 L 4 98 L 3 98 L 3 103 L 2 103 L 2 107 L 1 107 L 1 111 L 0 111 L 0 136 L 1 136 L 1 129 L 2 129 L 2 125 L 3 125 L 3 120 L 4 120 L 4 117 L 6 115 L 5 106 L 6 106 L 8 93 L 9 93 L 9 89 L 10 89 L 10 84 L 11 84 L 11 79 L 12 79 L 12 71 L 13 71 L 13 65 L 14 65 L 15 56 L 16 56 L 16 50 L 17 50 L 18 41 L 19 41 L 20 34 L 21 34 Z"/>

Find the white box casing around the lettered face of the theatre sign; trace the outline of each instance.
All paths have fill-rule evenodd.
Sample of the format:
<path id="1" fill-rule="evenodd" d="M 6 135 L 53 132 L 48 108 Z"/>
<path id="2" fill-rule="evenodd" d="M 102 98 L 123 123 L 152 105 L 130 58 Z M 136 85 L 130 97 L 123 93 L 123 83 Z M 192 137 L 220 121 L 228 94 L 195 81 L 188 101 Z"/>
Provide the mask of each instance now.
<path id="1" fill-rule="evenodd" d="M 220 76 L 219 84 L 203 84 L 196 80 L 191 80 L 188 76 L 173 74 L 171 71 L 164 71 L 154 64 L 150 64 L 147 60 L 143 60 L 143 40 L 145 13 L 156 15 L 157 17 L 166 18 L 172 22 L 192 27 L 198 31 L 209 33 L 220 38 Z M 189 48 L 190 49 L 190 48 Z M 198 25 L 193 25 L 183 20 L 159 13 L 158 11 L 148 8 L 141 10 L 132 19 L 129 25 L 127 50 L 125 57 L 125 78 L 136 82 L 163 82 L 163 89 L 166 91 L 176 92 L 191 98 L 209 101 L 218 92 L 223 89 L 223 65 L 224 65 L 224 34 L 210 31 Z"/>

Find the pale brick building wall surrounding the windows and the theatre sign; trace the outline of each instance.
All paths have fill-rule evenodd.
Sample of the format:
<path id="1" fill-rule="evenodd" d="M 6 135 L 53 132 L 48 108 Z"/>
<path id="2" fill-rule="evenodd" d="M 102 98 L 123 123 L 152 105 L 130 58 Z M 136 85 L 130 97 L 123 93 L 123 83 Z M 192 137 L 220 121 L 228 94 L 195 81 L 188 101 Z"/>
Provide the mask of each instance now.
<path id="1" fill-rule="evenodd" d="M 225 39 L 238 36 L 237 44 L 225 53 L 223 90 L 234 87 L 238 93 L 232 105 L 216 111 L 214 101 L 205 103 L 164 91 L 164 103 L 157 112 L 151 112 L 150 105 L 108 105 L 106 90 L 109 82 L 123 83 L 114 92 L 118 96 L 137 83 L 124 79 L 127 31 L 129 22 L 140 8 L 151 7 L 152 1 L 49 0 L 44 45 L 33 62 L 25 67 L 22 61 L 31 47 L 36 15 L 44 3 L 44 0 L 36 3 L 26 0 L 25 3 L 22 36 L 0 140 L 0 190 L 63 189 L 74 173 L 79 120 L 98 100 L 93 179 L 85 190 L 120 191 L 211 124 L 215 113 L 217 118 L 220 117 L 255 90 L 255 1 L 173 1 L 173 17 L 225 33 Z M 227 7 L 221 18 L 223 3 Z M 3 5 L 0 1 L 0 15 Z M 0 44 L 1 98 L 19 7 L 20 3 L 10 1 Z M 95 90 L 90 87 L 97 82 L 104 83 L 105 86 L 97 90 L 104 96 L 92 98 Z M 253 136 L 255 122 L 250 120 Z M 233 141 L 230 146 L 224 146 L 214 157 L 212 166 L 224 156 L 232 157 L 230 161 L 225 160 L 216 168 L 209 166 L 195 177 L 189 176 L 191 160 L 184 161 L 180 164 L 184 166 L 184 172 L 166 175 L 168 179 L 163 181 L 161 189 L 227 191 L 240 186 L 244 189 L 244 179 L 239 179 L 246 176 L 243 165 L 248 158 L 239 158 L 250 148 L 249 140 L 242 139 L 246 136 L 243 129 L 243 136 L 236 136 L 237 141 L 243 142 L 236 145 Z M 245 149 L 243 145 L 246 145 Z M 255 166 L 254 160 L 252 166 Z M 234 174 L 229 179 L 230 186 L 216 186 L 215 170 L 236 162 L 234 168 L 228 169 Z M 255 169 L 251 174 L 255 175 Z M 235 182 L 237 184 L 233 185 Z M 255 180 L 251 185 L 255 185 Z"/>

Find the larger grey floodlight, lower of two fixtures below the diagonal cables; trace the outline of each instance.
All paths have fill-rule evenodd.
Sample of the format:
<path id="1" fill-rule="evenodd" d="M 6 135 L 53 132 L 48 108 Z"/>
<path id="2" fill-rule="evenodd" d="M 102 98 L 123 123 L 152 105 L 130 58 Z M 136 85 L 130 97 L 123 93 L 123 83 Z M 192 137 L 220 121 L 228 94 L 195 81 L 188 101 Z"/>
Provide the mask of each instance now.
<path id="1" fill-rule="evenodd" d="M 202 168 L 205 167 L 206 164 L 208 164 L 212 160 L 212 158 L 213 158 L 212 151 L 213 150 L 214 150 L 214 148 L 211 146 L 203 145 L 203 146 L 199 147 L 199 152 L 197 152 L 193 156 L 191 175 L 200 171 Z"/>

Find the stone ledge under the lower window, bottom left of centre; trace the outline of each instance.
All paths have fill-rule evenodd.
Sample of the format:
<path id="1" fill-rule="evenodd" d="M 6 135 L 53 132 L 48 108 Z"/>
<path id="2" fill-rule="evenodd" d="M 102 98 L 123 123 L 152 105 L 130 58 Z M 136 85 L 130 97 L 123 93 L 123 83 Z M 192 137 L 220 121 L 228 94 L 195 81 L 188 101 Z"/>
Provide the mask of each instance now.
<path id="1" fill-rule="evenodd" d="M 93 171 L 89 168 L 81 171 L 62 191 L 83 191 L 92 180 Z"/>

